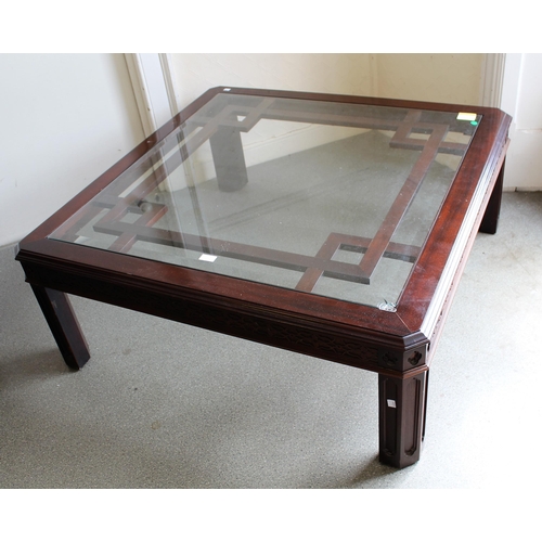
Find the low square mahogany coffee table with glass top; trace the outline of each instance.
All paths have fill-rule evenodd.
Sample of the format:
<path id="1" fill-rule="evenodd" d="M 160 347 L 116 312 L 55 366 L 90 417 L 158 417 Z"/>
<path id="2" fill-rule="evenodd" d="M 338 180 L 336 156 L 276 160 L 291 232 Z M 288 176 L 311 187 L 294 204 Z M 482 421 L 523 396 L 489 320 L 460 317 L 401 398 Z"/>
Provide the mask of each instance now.
<path id="1" fill-rule="evenodd" d="M 430 361 L 496 231 L 496 108 L 215 88 L 24 238 L 65 362 L 66 294 L 378 373 L 379 459 L 420 459 Z M 197 362 L 197 360 L 194 360 Z"/>

